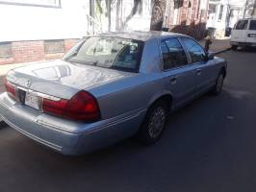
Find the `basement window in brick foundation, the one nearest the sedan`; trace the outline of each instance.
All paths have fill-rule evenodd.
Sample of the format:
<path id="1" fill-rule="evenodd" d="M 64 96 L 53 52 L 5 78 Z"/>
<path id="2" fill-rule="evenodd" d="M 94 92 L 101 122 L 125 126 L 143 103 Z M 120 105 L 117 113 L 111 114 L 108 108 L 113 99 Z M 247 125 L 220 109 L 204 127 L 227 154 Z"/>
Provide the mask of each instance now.
<path id="1" fill-rule="evenodd" d="M 45 54 L 64 53 L 64 40 L 45 40 L 44 53 Z"/>

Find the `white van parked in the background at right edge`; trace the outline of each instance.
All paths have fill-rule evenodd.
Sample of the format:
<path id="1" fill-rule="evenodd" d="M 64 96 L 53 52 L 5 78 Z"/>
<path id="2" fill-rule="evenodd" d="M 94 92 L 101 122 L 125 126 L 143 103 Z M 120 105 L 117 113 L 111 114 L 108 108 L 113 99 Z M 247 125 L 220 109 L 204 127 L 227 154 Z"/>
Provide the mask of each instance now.
<path id="1" fill-rule="evenodd" d="M 240 19 L 231 32 L 231 47 L 256 47 L 256 18 Z"/>

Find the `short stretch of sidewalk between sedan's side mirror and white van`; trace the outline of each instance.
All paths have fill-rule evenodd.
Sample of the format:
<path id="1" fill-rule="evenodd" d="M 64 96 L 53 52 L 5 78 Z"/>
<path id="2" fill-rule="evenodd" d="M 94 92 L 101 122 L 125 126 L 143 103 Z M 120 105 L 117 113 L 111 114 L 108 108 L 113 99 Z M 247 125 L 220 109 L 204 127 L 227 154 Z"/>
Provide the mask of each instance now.
<path id="1" fill-rule="evenodd" d="M 230 46 L 230 37 L 223 38 L 223 39 L 216 39 L 214 38 L 213 43 L 210 45 L 210 51 L 214 53 L 221 53 L 223 51 L 229 50 Z M 204 39 L 199 41 L 199 43 L 204 47 Z"/>

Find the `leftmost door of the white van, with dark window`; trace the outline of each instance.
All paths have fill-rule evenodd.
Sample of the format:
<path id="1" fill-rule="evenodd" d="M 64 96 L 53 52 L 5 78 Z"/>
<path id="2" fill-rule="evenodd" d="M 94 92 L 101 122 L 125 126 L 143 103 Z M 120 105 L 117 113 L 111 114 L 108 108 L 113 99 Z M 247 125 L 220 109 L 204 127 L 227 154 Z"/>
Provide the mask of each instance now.
<path id="1" fill-rule="evenodd" d="M 231 32 L 231 41 L 246 42 L 248 20 L 239 20 Z"/>

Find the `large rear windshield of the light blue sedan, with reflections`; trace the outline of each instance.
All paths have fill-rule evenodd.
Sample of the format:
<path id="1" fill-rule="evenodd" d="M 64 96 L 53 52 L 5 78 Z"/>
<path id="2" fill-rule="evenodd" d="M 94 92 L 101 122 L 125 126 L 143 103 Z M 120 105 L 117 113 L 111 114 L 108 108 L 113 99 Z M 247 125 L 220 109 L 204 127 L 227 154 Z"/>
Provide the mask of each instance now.
<path id="1" fill-rule="evenodd" d="M 73 47 L 63 60 L 139 72 L 143 42 L 140 40 L 91 36 Z"/>

